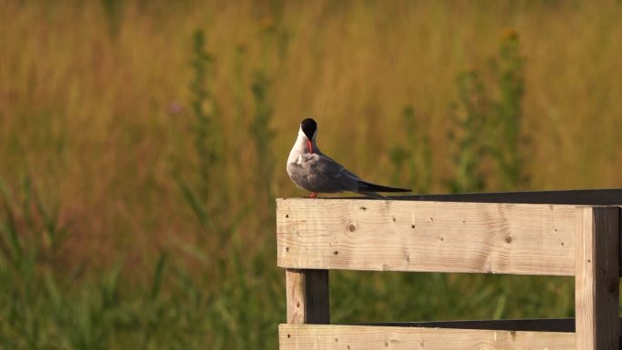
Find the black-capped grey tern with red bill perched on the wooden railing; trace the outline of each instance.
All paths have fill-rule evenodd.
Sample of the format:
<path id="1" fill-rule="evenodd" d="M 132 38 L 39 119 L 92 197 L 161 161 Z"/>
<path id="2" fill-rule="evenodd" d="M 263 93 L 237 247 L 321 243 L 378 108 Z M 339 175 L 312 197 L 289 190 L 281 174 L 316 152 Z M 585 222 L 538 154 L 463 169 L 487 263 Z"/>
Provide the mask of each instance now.
<path id="1" fill-rule="evenodd" d="M 317 147 L 316 136 L 316 121 L 310 118 L 303 120 L 296 143 L 287 158 L 287 175 L 299 188 L 311 192 L 309 198 L 316 198 L 318 193 L 349 191 L 386 199 L 376 192 L 410 192 L 406 188 L 376 185 L 361 180 L 333 158 L 324 155 Z"/>

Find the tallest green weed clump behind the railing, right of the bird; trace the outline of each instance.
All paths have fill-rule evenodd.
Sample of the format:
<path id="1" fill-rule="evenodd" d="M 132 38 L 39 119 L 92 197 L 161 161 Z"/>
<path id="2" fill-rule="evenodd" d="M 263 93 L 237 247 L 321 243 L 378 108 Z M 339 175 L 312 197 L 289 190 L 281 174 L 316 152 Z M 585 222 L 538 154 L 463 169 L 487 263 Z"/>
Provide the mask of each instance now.
<path id="1" fill-rule="evenodd" d="M 470 68 L 456 76 L 459 98 L 451 105 L 454 127 L 448 140 L 453 146 L 455 173 L 448 182 L 453 192 L 527 187 L 521 130 L 524 60 L 517 33 L 507 30 L 487 74 Z"/>

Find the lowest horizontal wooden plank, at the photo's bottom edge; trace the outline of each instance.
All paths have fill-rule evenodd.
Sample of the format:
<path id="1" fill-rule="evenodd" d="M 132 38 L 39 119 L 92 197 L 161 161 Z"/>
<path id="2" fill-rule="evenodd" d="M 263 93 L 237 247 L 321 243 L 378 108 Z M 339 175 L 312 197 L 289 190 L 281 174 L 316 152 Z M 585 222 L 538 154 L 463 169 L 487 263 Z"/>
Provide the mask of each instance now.
<path id="1" fill-rule="evenodd" d="M 386 327 L 279 325 L 280 350 L 460 350 L 576 348 L 574 333 Z"/>

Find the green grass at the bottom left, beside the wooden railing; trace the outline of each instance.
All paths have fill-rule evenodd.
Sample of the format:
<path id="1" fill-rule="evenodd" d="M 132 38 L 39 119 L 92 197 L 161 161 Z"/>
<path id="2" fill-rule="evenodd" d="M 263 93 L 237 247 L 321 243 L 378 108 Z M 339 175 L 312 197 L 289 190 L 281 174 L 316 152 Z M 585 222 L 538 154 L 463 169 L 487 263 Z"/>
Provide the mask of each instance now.
<path id="1" fill-rule="evenodd" d="M 125 262 L 116 261 L 84 276 L 82 266 L 55 263 L 70 232 L 57 206 L 45 206 L 27 179 L 17 191 L 0 185 L 3 348 L 276 346 L 285 305 L 280 271 L 266 265 L 273 249 L 246 260 L 239 233 L 231 231 L 227 255 L 185 246 L 193 262 L 163 252 L 141 275 L 124 273 Z M 132 281 L 138 285 L 130 287 Z"/>

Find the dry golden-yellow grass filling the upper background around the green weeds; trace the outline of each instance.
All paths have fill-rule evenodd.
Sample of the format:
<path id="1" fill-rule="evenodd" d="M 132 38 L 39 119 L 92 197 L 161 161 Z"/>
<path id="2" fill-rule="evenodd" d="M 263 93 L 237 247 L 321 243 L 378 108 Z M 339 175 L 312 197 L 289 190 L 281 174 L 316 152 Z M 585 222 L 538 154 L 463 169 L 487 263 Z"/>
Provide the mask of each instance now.
<path id="1" fill-rule="evenodd" d="M 61 200 L 75 220 L 67 259 L 140 261 L 196 229 L 172 176 L 195 162 L 187 103 L 196 29 L 216 58 L 209 85 L 234 209 L 256 194 L 252 167 L 242 166 L 255 159 L 253 72 L 272 81 L 277 196 L 302 195 L 284 169 L 307 116 L 326 153 L 385 182 L 389 149 L 406 141 L 405 105 L 429 127 L 441 192 L 455 76 L 485 66 L 507 28 L 527 57 L 530 187 L 622 185 L 619 2 L 117 2 L 112 17 L 102 3 L 0 2 L 0 175 L 9 184 L 33 175 L 40 192 Z M 176 103 L 182 112 L 169 113 Z M 249 242 L 271 234 L 247 222 Z"/>

